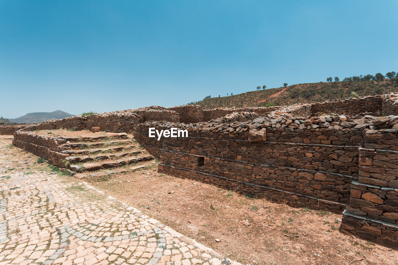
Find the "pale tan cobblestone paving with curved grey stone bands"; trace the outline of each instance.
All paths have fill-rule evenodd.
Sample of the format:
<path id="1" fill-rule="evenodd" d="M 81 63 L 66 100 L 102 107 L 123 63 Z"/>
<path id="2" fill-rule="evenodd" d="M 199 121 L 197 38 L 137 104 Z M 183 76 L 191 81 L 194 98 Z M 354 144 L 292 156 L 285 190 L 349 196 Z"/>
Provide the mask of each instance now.
<path id="1" fill-rule="evenodd" d="M 0 142 L 0 265 L 240 264 L 87 183 L 12 170 L 10 156 Z"/>

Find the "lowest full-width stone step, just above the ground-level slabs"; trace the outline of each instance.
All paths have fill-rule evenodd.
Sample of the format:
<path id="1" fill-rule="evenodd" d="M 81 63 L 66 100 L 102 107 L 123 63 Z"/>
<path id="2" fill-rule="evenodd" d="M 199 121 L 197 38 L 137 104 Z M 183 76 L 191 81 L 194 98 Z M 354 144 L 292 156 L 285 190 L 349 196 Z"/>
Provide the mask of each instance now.
<path id="1" fill-rule="evenodd" d="M 120 166 L 124 166 L 127 164 L 138 163 L 142 161 L 150 161 L 153 160 L 153 156 L 142 156 L 142 157 L 129 157 L 125 159 L 118 159 L 118 160 L 105 160 L 98 163 L 84 163 L 82 166 L 72 164 L 69 166 L 69 170 L 74 172 L 82 171 L 83 167 L 86 171 L 94 171 L 100 169 L 107 169 L 107 168 L 117 168 Z"/>

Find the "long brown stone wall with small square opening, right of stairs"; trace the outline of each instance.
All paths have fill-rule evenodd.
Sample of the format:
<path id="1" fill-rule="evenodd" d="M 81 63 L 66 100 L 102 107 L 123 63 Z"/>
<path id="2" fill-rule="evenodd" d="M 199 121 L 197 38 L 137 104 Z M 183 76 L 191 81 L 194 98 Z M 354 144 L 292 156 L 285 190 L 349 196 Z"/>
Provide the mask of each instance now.
<path id="1" fill-rule="evenodd" d="M 338 116 L 234 123 L 217 119 L 185 126 L 146 123 L 140 125 L 137 140 L 160 159 L 162 172 L 295 206 L 342 212 L 350 183 L 358 179 L 357 144 L 363 142 L 365 128 L 357 125 L 363 122 Z M 147 136 L 148 127 L 187 129 L 189 137 L 157 141 Z"/>

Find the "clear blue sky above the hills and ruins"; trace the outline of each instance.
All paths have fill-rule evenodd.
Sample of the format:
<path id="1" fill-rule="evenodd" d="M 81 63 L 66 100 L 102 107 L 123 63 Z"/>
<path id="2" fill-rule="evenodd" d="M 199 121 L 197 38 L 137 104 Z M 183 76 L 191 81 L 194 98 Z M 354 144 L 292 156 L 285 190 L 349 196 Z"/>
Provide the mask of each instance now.
<path id="1" fill-rule="evenodd" d="M 0 116 L 398 72 L 398 1 L 0 0 Z"/>

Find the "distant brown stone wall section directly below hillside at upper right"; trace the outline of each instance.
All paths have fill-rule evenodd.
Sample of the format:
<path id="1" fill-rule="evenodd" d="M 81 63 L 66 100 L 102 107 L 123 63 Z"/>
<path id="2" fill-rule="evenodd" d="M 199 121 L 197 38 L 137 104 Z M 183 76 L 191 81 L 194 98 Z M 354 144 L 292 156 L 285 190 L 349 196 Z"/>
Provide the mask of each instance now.
<path id="1" fill-rule="evenodd" d="M 311 104 L 312 113 L 358 114 L 378 113 L 382 109 L 382 96 L 349 98 Z"/>

